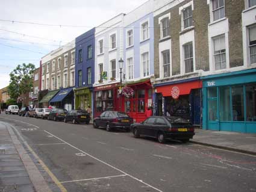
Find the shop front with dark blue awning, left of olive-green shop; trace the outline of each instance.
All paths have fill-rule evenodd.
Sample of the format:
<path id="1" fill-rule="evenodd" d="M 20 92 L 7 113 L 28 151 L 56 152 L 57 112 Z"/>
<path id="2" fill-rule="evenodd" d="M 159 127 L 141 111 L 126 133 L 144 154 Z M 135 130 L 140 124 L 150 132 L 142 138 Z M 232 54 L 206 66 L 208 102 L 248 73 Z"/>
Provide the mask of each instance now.
<path id="1" fill-rule="evenodd" d="M 50 105 L 55 108 L 64 108 L 67 111 L 73 109 L 73 87 L 61 89 L 52 99 L 49 101 Z"/>

